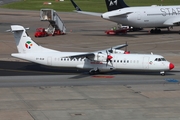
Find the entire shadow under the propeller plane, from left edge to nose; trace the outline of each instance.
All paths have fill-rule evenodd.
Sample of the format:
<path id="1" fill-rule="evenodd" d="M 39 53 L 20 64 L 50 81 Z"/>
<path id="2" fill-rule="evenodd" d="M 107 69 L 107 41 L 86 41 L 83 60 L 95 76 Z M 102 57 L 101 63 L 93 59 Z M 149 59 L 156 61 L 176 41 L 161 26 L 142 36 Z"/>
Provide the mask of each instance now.
<path id="1" fill-rule="evenodd" d="M 167 72 L 166 75 L 174 75 L 180 71 Z M 48 67 L 31 62 L 0 61 L 0 76 L 23 76 L 23 75 L 75 75 L 72 79 L 91 76 L 88 70 L 77 68 Z M 101 75 L 160 75 L 152 72 L 120 72 L 112 71 Z"/>

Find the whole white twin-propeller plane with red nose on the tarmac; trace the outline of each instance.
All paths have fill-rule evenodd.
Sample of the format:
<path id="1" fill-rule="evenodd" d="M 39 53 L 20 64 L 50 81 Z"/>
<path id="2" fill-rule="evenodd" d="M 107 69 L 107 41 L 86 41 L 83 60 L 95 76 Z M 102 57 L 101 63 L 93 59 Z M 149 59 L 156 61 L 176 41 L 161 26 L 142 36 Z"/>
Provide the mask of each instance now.
<path id="1" fill-rule="evenodd" d="M 89 69 L 90 74 L 126 70 L 155 71 L 165 75 L 166 71 L 174 68 L 174 65 L 161 55 L 124 54 L 125 51 L 118 50 L 127 44 L 95 52 L 61 52 L 37 45 L 23 26 L 12 25 L 11 31 L 19 52 L 11 55 L 42 65 Z"/>

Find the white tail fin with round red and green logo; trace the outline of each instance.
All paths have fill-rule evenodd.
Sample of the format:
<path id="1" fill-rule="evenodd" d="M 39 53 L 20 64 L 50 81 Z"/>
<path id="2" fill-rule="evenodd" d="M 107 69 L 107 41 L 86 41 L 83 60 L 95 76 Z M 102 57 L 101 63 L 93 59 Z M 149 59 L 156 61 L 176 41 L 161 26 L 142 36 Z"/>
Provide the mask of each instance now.
<path id="1" fill-rule="evenodd" d="M 38 46 L 26 33 L 26 29 L 20 25 L 11 25 L 11 31 L 19 53 L 27 53 L 39 50 Z"/>

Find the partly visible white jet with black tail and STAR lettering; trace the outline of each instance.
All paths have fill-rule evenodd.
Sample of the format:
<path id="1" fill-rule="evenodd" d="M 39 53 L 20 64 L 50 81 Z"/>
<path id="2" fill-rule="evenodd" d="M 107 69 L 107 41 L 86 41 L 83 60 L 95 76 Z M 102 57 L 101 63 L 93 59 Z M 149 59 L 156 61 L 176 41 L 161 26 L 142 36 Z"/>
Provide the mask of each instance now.
<path id="1" fill-rule="evenodd" d="M 169 28 L 180 25 L 180 6 L 137 6 L 129 7 L 123 0 L 105 0 L 108 12 L 94 13 L 80 11 L 75 6 L 78 13 L 101 16 L 103 19 L 116 22 L 118 24 L 137 27 L 155 28 L 151 33 L 161 32 L 161 28 Z"/>

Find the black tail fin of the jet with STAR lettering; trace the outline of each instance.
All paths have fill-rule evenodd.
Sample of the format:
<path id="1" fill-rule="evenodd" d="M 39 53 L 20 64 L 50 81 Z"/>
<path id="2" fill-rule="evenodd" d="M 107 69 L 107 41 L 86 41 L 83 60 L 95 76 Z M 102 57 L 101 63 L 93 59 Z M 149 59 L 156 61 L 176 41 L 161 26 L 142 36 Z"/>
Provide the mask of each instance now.
<path id="1" fill-rule="evenodd" d="M 108 11 L 129 7 L 128 5 L 126 5 L 124 0 L 105 0 L 105 1 Z"/>

